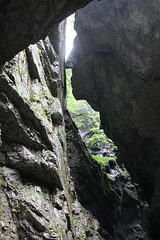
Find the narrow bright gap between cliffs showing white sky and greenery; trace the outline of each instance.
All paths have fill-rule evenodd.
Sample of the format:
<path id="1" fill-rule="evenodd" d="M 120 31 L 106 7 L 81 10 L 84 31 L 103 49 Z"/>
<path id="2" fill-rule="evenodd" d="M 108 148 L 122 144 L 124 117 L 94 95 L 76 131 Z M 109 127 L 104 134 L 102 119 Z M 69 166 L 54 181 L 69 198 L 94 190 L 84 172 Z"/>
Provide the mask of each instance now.
<path id="1" fill-rule="evenodd" d="M 73 41 L 76 36 L 74 21 L 74 14 L 67 18 L 66 59 L 69 57 L 73 48 Z M 99 112 L 94 111 L 87 101 L 76 100 L 74 98 L 72 94 L 71 76 L 72 70 L 66 69 L 67 109 L 79 130 L 89 154 L 106 170 L 109 178 L 114 178 L 117 173 L 115 167 L 118 166 L 116 163 L 116 153 L 118 149 L 113 141 L 105 135 L 103 129 L 100 129 Z M 125 171 L 124 174 L 126 174 Z"/>

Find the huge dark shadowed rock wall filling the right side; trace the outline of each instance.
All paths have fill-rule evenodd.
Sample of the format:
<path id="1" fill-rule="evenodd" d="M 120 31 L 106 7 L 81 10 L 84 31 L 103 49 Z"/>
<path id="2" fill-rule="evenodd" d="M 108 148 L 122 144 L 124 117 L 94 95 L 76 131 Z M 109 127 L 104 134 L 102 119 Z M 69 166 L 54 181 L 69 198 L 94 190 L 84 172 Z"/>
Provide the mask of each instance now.
<path id="1" fill-rule="evenodd" d="M 150 204 L 160 238 L 159 2 L 94 1 L 76 13 L 69 59 L 77 99 L 100 112 L 102 128 Z"/>

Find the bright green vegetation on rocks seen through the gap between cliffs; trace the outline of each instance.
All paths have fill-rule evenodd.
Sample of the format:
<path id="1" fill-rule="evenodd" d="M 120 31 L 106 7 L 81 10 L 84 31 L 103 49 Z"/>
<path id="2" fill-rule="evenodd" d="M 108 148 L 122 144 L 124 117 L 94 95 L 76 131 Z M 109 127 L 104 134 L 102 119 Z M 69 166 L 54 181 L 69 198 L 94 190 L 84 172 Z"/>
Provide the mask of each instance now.
<path id="1" fill-rule="evenodd" d="M 85 100 L 76 100 L 72 94 L 70 69 L 67 76 L 67 108 L 79 129 L 89 153 L 101 165 L 106 166 L 109 160 L 115 160 L 114 151 L 117 149 L 102 129 L 100 129 L 99 112 L 94 111 Z"/>

